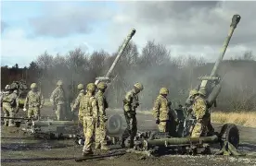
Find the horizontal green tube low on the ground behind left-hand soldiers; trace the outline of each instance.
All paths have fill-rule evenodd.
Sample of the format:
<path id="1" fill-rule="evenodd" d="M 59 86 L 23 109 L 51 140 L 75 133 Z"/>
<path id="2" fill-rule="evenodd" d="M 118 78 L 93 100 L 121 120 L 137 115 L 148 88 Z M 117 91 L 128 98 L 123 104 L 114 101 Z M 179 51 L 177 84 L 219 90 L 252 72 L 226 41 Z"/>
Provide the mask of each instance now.
<path id="1" fill-rule="evenodd" d="M 70 126 L 78 125 L 76 121 L 33 121 L 33 126 Z"/>

